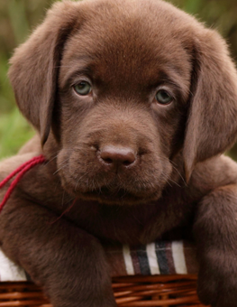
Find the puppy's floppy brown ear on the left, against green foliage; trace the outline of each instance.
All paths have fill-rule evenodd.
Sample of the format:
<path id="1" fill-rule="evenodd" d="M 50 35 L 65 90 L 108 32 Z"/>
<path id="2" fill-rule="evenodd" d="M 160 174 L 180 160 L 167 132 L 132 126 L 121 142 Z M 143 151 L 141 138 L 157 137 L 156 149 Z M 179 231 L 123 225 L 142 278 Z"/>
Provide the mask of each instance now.
<path id="1" fill-rule="evenodd" d="M 41 144 L 50 133 L 64 43 L 77 20 L 75 4 L 57 3 L 45 21 L 14 52 L 9 78 L 18 107 L 41 134 Z M 74 8 L 74 9 L 73 9 Z"/>

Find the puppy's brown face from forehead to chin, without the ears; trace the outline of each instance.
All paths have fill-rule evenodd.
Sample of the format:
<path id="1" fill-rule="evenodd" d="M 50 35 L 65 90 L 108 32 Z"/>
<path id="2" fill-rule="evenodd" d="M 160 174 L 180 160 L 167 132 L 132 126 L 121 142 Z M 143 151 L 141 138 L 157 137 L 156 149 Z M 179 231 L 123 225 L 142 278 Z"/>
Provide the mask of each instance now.
<path id="1" fill-rule="evenodd" d="M 156 200 L 184 135 L 190 54 L 170 20 L 150 9 L 144 23 L 141 7 L 115 8 L 87 9 L 65 44 L 59 174 L 80 197 Z"/>

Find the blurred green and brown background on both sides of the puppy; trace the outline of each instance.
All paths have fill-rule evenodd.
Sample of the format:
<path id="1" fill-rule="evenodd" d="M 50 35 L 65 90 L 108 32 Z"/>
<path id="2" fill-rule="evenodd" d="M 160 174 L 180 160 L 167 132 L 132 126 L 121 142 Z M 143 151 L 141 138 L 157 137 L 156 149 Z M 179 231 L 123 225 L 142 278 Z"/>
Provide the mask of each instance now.
<path id="1" fill-rule="evenodd" d="M 144 0 L 146 1 L 146 0 Z M 41 21 L 54 0 L 0 0 L 0 159 L 17 152 L 33 130 L 15 107 L 6 77 L 8 60 Z M 237 61 L 237 0 L 169 0 L 217 29 Z M 237 120 L 237 118 L 236 118 Z M 228 153 L 237 160 L 237 145 Z"/>

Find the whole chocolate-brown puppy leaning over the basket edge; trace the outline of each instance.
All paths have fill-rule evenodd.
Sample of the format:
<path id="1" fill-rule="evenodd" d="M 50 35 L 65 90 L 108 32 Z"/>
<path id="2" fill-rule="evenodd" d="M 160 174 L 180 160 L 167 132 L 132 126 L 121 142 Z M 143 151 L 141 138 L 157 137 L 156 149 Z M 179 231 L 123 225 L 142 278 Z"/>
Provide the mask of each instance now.
<path id="1" fill-rule="evenodd" d="M 112 307 L 101 243 L 193 231 L 201 301 L 235 306 L 237 165 L 219 154 L 237 135 L 237 74 L 223 39 L 160 0 L 66 1 L 11 63 L 40 137 L 0 177 L 33 155 L 49 163 L 0 214 L 5 254 L 54 306 Z"/>

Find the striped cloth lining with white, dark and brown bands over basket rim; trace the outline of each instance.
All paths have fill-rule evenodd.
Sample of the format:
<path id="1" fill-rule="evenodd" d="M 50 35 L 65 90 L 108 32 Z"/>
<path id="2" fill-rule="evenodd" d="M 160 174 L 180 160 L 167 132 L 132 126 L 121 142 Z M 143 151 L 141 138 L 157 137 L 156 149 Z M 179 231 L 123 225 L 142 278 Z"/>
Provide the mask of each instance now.
<path id="1" fill-rule="evenodd" d="M 158 241 L 147 246 L 105 247 L 112 276 L 133 274 L 196 274 L 195 247 L 184 241 Z M 28 276 L 0 249 L 0 281 L 23 281 Z"/>

